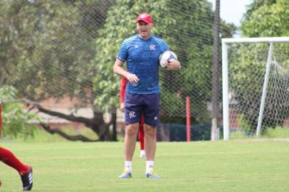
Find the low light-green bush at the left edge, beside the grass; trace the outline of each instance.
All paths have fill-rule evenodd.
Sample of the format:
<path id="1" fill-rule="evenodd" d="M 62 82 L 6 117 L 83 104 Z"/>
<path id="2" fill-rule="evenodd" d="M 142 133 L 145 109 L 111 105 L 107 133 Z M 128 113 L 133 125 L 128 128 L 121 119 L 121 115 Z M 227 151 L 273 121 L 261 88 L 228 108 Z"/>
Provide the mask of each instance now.
<path id="1" fill-rule="evenodd" d="M 15 139 L 21 137 L 28 139 L 33 137 L 33 132 L 37 129 L 31 121 L 39 120 L 36 114 L 28 113 L 23 110 L 23 105 L 19 102 L 5 102 L 5 100 L 13 100 L 17 94 L 14 87 L 1 87 L 0 98 L 2 102 L 2 136 Z"/>

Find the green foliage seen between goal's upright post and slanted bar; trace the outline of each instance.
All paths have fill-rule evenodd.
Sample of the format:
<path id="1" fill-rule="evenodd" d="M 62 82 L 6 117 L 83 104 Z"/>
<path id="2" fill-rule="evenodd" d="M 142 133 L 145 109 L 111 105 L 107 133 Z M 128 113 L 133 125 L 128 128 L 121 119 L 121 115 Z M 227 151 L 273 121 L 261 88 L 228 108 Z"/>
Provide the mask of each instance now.
<path id="1" fill-rule="evenodd" d="M 229 58 L 232 58 L 232 60 L 228 67 L 231 72 L 228 74 L 230 79 L 229 89 L 238 101 L 238 106 L 242 106 L 237 111 L 238 125 L 245 132 L 253 132 L 256 129 L 256 119 L 258 118 L 261 102 L 263 75 L 261 75 L 261 78 L 254 78 L 254 82 L 248 80 L 248 76 L 258 77 L 265 73 L 264 58 L 260 53 L 263 51 L 267 53 L 268 46 L 245 44 L 231 46 L 231 49 Z M 253 59 L 254 57 L 256 59 Z"/>

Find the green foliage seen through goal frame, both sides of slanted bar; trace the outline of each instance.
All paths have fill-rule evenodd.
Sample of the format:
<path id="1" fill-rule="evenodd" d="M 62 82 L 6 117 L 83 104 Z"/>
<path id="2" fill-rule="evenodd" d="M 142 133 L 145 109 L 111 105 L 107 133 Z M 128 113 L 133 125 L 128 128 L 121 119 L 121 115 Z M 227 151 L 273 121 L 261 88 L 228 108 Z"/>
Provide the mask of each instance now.
<path id="1" fill-rule="evenodd" d="M 288 104 L 286 92 L 288 78 L 284 69 L 288 68 L 286 51 L 288 45 L 275 45 L 274 58 L 278 65 L 272 64 L 268 75 L 267 96 L 263 112 L 262 132 L 268 127 L 282 125 L 288 118 Z M 228 74 L 229 90 L 232 101 L 237 102 L 236 108 L 238 124 L 246 132 L 255 132 L 258 123 L 258 114 L 262 97 L 264 74 L 266 73 L 266 60 L 268 57 L 267 43 L 243 43 L 232 45 L 229 52 L 230 65 Z M 280 67 L 283 66 L 283 67 Z M 235 111 L 234 111 L 235 112 Z"/>

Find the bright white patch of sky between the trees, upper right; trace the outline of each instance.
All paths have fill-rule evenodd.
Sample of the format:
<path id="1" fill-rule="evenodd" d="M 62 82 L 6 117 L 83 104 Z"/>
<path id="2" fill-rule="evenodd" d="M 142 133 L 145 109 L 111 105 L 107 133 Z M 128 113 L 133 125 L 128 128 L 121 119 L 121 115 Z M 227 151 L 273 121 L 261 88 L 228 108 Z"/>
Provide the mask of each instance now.
<path id="1" fill-rule="evenodd" d="M 209 0 L 215 9 L 216 0 Z M 220 0 L 220 16 L 226 23 L 234 23 L 240 26 L 240 20 L 246 12 L 246 5 L 253 0 Z"/>

